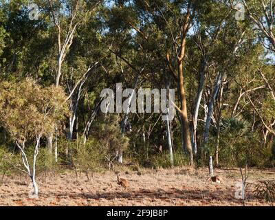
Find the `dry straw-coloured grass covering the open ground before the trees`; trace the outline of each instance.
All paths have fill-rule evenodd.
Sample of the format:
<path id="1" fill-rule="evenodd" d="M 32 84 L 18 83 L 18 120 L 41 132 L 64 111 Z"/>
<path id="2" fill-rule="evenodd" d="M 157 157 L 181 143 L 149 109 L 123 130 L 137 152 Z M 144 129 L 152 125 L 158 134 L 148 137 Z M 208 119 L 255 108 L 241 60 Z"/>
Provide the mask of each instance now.
<path id="1" fill-rule="evenodd" d="M 30 199 L 27 178 L 5 177 L 0 186 L 0 206 L 242 206 L 235 199 L 236 182 L 241 181 L 238 169 L 219 169 L 214 174 L 223 178 L 223 184 L 206 181 L 206 168 L 173 168 L 142 170 L 142 175 L 128 171 L 121 177 L 129 180 L 130 187 L 117 184 L 114 172 L 94 173 L 76 177 L 67 172 L 56 177 L 38 179 L 40 197 Z M 248 181 L 273 179 L 274 170 L 250 170 Z M 246 206 L 274 206 L 256 199 L 248 188 Z"/>

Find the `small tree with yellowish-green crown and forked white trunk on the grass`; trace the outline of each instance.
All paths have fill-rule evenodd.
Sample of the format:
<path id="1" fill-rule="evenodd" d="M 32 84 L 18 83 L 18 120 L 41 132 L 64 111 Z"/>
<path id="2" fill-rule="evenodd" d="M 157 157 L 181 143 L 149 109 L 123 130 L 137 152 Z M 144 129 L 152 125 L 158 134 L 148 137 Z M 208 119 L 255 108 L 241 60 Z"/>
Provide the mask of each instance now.
<path id="1" fill-rule="evenodd" d="M 61 87 L 43 88 L 34 80 L 2 81 L 0 85 L 0 122 L 10 133 L 21 152 L 24 173 L 32 181 L 34 196 L 39 195 L 36 183 L 36 159 L 41 138 L 60 124 L 66 113 L 65 93 Z M 33 159 L 27 148 L 33 148 Z"/>

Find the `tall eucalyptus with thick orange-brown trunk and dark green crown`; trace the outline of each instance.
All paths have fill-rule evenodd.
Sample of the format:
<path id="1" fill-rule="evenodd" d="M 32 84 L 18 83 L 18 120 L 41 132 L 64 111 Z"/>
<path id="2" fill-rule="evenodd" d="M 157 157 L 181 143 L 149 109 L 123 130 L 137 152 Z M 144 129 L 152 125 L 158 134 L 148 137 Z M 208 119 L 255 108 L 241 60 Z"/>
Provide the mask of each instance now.
<path id="1" fill-rule="evenodd" d="M 192 146 L 184 89 L 184 58 L 186 37 L 196 3 L 198 1 L 119 1 L 112 10 L 113 17 L 116 18 L 112 19 L 113 26 L 120 19 L 116 26 L 131 30 L 137 52 L 157 59 L 162 63 L 161 68 L 167 69 L 165 72 L 177 83 L 179 107 L 176 109 L 181 120 L 182 146 L 188 149 L 191 164 Z"/>

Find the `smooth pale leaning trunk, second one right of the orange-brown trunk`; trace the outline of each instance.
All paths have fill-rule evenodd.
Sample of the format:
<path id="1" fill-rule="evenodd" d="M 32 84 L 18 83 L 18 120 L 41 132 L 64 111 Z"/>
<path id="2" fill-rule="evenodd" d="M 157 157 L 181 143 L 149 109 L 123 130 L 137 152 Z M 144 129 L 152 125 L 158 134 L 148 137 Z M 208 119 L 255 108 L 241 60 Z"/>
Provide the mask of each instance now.
<path id="1" fill-rule="evenodd" d="M 211 122 L 211 118 L 212 118 L 212 111 L 214 108 L 214 100 L 216 100 L 222 80 L 223 80 L 223 74 L 221 74 L 221 72 L 218 72 L 216 82 L 214 85 L 214 89 L 213 89 L 213 93 L 212 93 L 212 97 L 208 104 L 208 113 L 207 113 L 206 124 L 205 124 L 204 132 L 203 132 L 203 144 L 201 145 L 201 153 L 202 154 L 204 153 L 203 152 L 204 146 L 205 146 L 206 142 L 208 141 L 210 122 Z"/>

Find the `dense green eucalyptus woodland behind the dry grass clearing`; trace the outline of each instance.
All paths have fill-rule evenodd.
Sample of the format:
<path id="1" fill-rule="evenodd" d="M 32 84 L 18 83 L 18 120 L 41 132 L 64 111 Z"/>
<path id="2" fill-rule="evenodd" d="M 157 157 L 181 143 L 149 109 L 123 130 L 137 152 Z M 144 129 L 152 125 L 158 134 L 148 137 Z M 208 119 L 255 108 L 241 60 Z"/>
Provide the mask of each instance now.
<path id="1" fill-rule="evenodd" d="M 2 0 L 2 175 L 37 194 L 36 173 L 61 167 L 273 167 L 275 2 L 239 1 L 244 19 L 237 2 Z M 117 83 L 175 89 L 175 118 L 102 113 Z"/>

